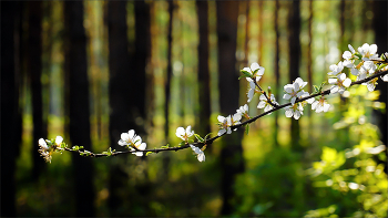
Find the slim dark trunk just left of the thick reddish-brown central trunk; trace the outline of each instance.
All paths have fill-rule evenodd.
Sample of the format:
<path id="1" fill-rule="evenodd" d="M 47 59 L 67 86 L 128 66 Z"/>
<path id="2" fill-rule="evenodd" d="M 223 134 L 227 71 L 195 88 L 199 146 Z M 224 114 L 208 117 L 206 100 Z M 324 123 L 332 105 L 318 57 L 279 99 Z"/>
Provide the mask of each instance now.
<path id="1" fill-rule="evenodd" d="M 208 72 L 208 4 L 207 1 L 196 1 L 198 17 L 198 82 L 200 82 L 200 131 L 204 136 L 211 133 L 211 84 Z"/>

